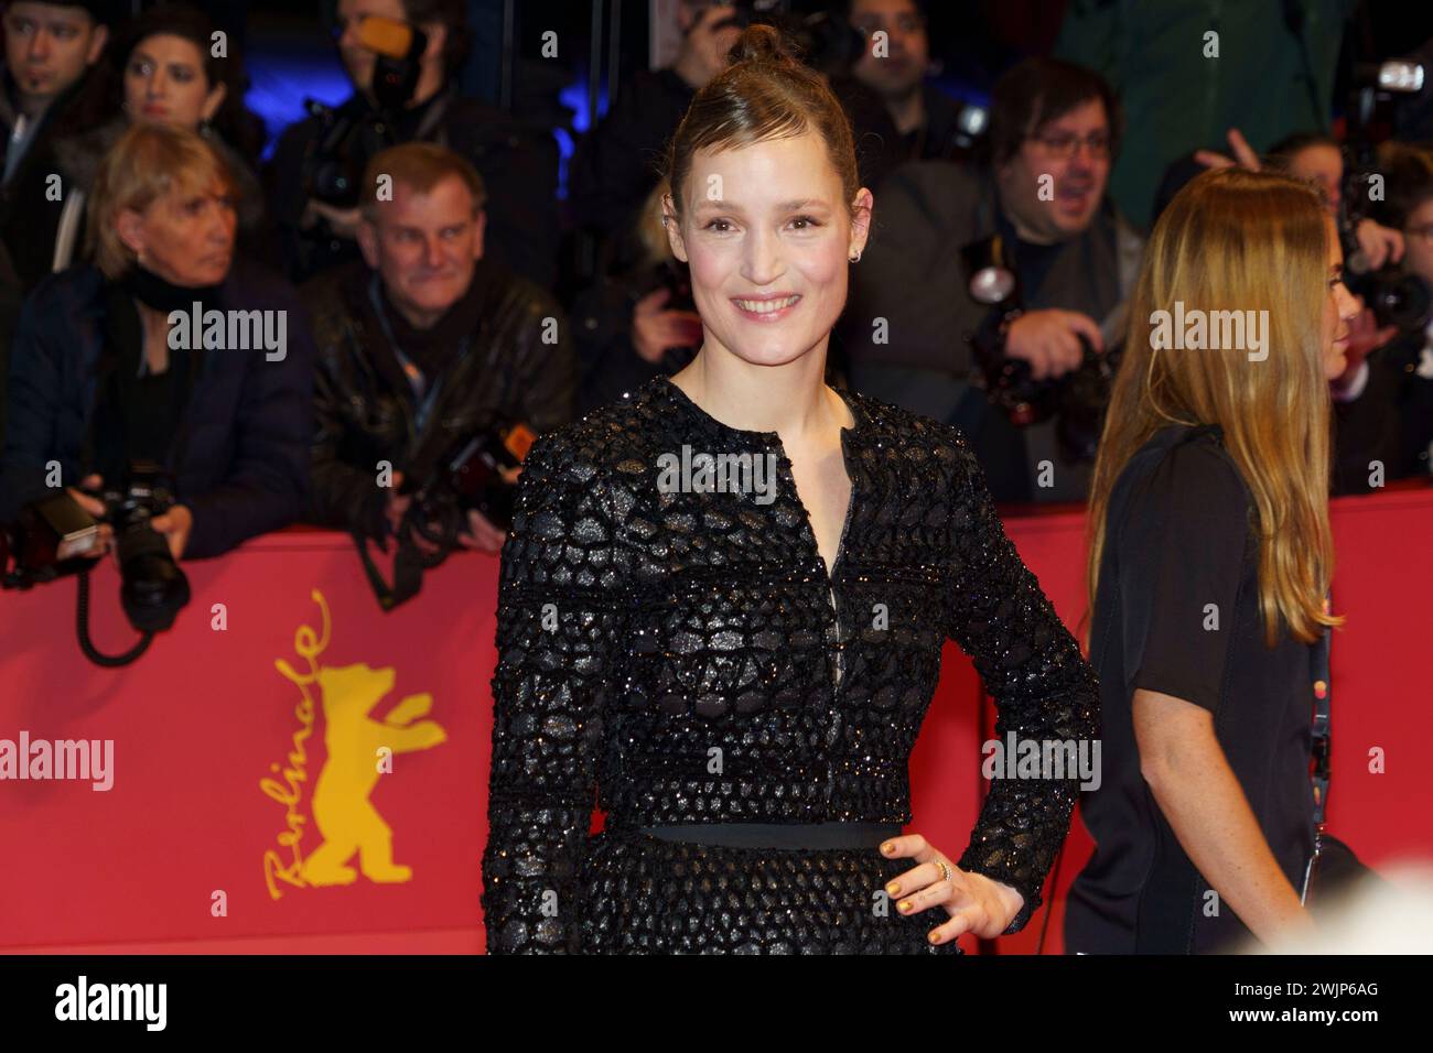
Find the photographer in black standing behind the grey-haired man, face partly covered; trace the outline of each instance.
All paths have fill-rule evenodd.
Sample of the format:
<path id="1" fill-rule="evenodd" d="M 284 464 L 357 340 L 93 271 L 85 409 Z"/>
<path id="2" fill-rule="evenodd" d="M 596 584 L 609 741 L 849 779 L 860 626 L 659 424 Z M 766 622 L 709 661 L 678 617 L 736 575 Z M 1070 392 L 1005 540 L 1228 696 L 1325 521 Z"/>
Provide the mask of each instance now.
<path id="1" fill-rule="evenodd" d="M 364 165 L 388 146 L 433 142 L 471 162 L 503 202 L 487 232 L 490 255 L 552 287 L 557 145 L 546 129 L 459 96 L 463 0 L 340 0 L 337 19 L 334 39 L 354 95 L 327 116 L 285 129 L 265 172 L 289 278 L 301 282 L 357 259 Z"/>

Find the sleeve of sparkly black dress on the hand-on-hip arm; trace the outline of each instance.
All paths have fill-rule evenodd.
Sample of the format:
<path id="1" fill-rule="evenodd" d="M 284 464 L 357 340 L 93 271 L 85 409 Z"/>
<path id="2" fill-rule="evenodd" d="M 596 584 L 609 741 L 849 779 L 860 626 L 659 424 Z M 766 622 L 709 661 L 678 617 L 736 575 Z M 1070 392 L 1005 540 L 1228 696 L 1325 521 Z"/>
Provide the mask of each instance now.
<path id="1" fill-rule="evenodd" d="M 1093 744 L 1099 682 L 1035 574 L 1000 524 L 983 473 L 957 440 L 952 540 L 957 553 L 950 636 L 970 655 L 995 698 L 996 735 L 1007 744 Z M 1002 881 L 1025 897 L 1005 930 L 1017 933 L 1040 905 L 1040 890 L 1069 831 L 1080 778 L 995 778 L 960 857 L 962 870 Z"/>

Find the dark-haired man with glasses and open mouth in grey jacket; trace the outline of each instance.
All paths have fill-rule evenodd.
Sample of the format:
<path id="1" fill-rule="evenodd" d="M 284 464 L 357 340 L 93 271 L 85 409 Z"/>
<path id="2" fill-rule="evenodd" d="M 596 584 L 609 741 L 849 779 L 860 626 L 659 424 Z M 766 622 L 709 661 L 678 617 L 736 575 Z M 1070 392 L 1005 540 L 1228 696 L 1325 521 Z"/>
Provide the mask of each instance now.
<path id="1" fill-rule="evenodd" d="M 843 325 L 853 387 L 957 424 L 997 500 L 1082 500 L 1088 487 L 1089 463 L 1063 456 L 1053 421 L 1017 427 L 970 383 L 969 341 L 1027 362 L 1035 381 L 1080 367 L 1082 340 L 1106 350 L 1141 251 L 1105 196 L 1119 123 L 1096 74 L 1029 59 L 995 86 L 989 166 L 916 162 L 876 189 Z M 1013 319 L 967 294 L 963 254 L 993 235 L 1022 291 Z M 1040 461 L 1062 464 L 1053 486 L 1033 484 Z"/>

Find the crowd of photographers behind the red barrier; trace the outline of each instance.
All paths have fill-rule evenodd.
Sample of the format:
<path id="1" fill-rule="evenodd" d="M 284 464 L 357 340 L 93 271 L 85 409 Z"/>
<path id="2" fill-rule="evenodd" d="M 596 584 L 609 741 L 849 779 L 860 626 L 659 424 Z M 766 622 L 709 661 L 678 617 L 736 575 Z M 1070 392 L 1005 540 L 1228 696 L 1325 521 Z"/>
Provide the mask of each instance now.
<path id="1" fill-rule="evenodd" d="M 353 96 L 310 105 L 268 163 L 208 17 L 113 7 L 4 4 L 7 585 L 115 547 L 132 620 L 163 628 L 178 560 L 311 521 L 355 537 L 391 606 L 451 549 L 499 550 L 535 434 L 695 354 L 655 160 L 744 6 L 675 4 L 676 60 L 577 143 L 565 205 L 552 129 L 457 87 L 463 0 L 340 0 Z M 1199 69 L 1122 69 L 1099 42 L 1139 27 L 1072 4 L 1060 57 L 1013 66 L 987 109 L 929 82 L 923 4 L 833 7 L 794 30 L 877 202 L 834 383 L 959 424 L 1000 500 L 1082 500 L 1141 226 L 1204 166 L 1275 165 L 1324 189 L 1366 301 L 1333 489 L 1429 474 L 1433 129 L 1330 136 L 1346 0 L 1283 4 L 1320 17 L 1240 27 L 1268 47 Z M 1176 80 L 1197 110 L 1165 106 Z M 370 546 L 390 543 L 385 580 Z"/>

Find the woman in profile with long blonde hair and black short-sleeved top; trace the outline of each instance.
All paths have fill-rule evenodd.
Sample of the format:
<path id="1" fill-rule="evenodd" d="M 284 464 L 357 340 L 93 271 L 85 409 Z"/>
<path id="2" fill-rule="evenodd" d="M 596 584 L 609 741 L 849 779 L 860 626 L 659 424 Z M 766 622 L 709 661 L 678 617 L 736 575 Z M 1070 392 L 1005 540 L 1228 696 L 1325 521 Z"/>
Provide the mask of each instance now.
<path id="1" fill-rule="evenodd" d="M 1155 226 L 1091 494 L 1103 781 L 1069 951 L 1308 924 L 1311 645 L 1343 622 L 1324 607 L 1328 381 L 1358 309 L 1341 272 L 1318 192 L 1280 175 L 1201 175 Z"/>

